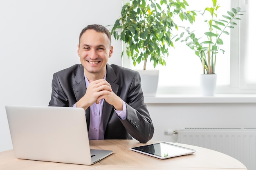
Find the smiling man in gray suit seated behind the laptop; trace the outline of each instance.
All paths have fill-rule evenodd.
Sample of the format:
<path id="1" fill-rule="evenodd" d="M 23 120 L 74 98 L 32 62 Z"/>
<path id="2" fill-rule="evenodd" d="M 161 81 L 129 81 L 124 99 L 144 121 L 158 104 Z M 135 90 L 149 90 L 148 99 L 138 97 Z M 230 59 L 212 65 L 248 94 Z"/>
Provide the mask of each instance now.
<path id="1" fill-rule="evenodd" d="M 49 106 L 85 110 L 90 140 L 132 139 L 149 141 L 154 133 L 144 103 L 138 72 L 109 65 L 111 35 L 101 25 L 88 25 L 79 37 L 81 64 L 54 73 Z"/>

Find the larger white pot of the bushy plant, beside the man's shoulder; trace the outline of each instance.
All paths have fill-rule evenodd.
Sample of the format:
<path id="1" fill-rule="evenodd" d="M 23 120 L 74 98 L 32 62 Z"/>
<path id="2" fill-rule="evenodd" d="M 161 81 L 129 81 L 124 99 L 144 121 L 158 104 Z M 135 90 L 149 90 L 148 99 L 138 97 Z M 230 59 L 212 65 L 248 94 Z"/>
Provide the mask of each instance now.
<path id="1" fill-rule="evenodd" d="M 137 70 L 141 76 L 144 97 L 155 97 L 157 93 L 159 70 Z"/>

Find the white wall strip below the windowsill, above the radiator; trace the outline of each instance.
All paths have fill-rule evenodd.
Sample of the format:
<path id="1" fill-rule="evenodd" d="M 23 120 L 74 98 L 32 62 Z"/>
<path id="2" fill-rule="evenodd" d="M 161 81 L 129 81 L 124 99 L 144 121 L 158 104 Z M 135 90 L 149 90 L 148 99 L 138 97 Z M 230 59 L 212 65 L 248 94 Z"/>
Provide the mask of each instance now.
<path id="1" fill-rule="evenodd" d="M 147 107 L 155 127 L 153 140 L 177 141 L 177 135 L 164 135 L 167 129 L 256 127 L 255 103 L 149 103 Z"/>

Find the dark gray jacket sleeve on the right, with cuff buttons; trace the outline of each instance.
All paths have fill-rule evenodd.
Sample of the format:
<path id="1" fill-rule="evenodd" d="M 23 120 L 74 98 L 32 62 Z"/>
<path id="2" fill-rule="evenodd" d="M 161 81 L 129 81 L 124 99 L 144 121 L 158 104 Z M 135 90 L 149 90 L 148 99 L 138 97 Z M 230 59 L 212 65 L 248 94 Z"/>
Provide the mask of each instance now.
<path id="1" fill-rule="evenodd" d="M 126 100 L 127 117 L 121 120 L 129 134 L 141 143 L 153 137 L 154 126 L 141 89 L 141 77 L 135 73 Z"/>

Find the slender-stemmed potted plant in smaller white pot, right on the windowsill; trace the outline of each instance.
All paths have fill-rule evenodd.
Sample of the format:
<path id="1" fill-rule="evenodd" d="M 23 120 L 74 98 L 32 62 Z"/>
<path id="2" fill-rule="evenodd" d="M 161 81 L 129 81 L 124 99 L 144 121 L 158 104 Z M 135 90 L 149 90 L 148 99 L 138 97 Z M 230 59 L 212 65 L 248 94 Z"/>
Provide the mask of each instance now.
<path id="1" fill-rule="evenodd" d="M 195 55 L 199 57 L 200 62 L 202 63 L 203 73 L 200 79 L 206 79 L 205 81 L 201 81 L 201 85 L 206 86 L 206 89 L 202 87 L 202 92 L 205 96 L 212 96 L 215 93 L 216 55 L 220 51 L 222 53 L 225 52 L 224 49 L 220 48 L 220 46 L 223 44 L 221 37 L 223 34 L 229 35 L 229 32 L 226 31 L 226 29 L 233 29 L 234 26 L 237 25 L 234 20 L 240 20 L 238 15 L 243 15 L 241 14 L 243 11 L 241 11 L 240 7 L 237 7 L 236 9 L 232 8 L 232 11 L 227 11 L 227 15 L 222 15 L 220 18 L 218 13 L 220 4 L 217 3 L 217 0 L 212 0 L 212 2 L 212 7 L 206 7 L 203 13 L 200 13 L 199 11 L 199 13 L 204 16 L 204 18 L 205 15 L 208 16 L 208 18 L 204 20 L 206 26 L 208 27 L 208 31 L 204 33 L 205 36 L 203 38 L 198 38 L 194 31 L 190 31 L 190 27 L 183 27 L 185 31 L 182 32 L 180 36 L 175 40 L 185 42 L 190 49 L 195 51 Z M 208 88 L 211 88 L 212 90 L 209 91 Z"/>

